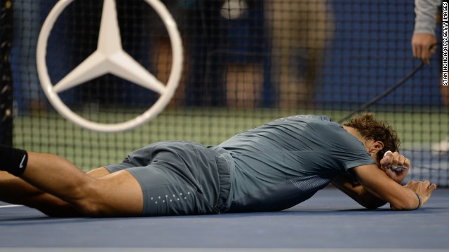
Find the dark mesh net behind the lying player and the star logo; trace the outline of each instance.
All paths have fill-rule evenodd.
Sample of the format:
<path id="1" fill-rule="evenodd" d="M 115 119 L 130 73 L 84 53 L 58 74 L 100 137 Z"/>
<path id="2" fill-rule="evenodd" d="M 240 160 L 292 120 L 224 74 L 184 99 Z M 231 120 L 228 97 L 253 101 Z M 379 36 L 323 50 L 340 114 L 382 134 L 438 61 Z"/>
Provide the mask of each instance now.
<path id="1" fill-rule="evenodd" d="M 102 14 L 106 3 L 114 11 Z M 121 47 L 161 83 L 173 63 L 170 37 L 152 1 L 74 0 L 55 19 L 45 62 L 55 85 L 98 48 L 104 15 L 116 17 Z M 168 106 L 126 132 L 85 130 L 48 102 L 36 70 L 39 32 L 55 0 L 1 1 L 1 141 L 62 155 L 84 170 L 121 162 L 129 151 L 169 139 L 205 145 L 270 120 L 325 114 L 338 121 L 421 62 L 410 38 L 413 1 L 166 0 L 182 37 L 184 62 Z M 436 26 L 441 41 L 441 25 Z M 408 179 L 449 186 L 448 108 L 436 55 L 366 111 L 401 137 Z M 11 69 L 11 70 L 10 70 Z M 107 73 L 59 94 L 95 123 L 122 123 L 160 95 Z"/>

